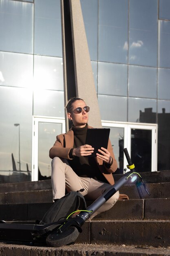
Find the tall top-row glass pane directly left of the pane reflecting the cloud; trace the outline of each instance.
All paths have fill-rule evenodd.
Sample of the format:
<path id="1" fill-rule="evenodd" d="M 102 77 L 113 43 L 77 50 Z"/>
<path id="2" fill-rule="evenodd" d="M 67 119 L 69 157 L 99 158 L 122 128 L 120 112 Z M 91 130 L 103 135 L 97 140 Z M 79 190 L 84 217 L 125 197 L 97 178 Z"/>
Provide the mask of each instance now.
<path id="1" fill-rule="evenodd" d="M 99 0 L 99 61 L 128 61 L 128 0 Z"/>

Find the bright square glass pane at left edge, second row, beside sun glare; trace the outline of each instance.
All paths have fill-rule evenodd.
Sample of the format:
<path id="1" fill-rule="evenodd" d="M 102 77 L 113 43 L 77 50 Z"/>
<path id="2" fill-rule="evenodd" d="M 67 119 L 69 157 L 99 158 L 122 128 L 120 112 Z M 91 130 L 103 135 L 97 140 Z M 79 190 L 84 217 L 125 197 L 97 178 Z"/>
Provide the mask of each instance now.
<path id="1" fill-rule="evenodd" d="M 0 52 L 0 85 L 31 87 L 33 55 Z"/>

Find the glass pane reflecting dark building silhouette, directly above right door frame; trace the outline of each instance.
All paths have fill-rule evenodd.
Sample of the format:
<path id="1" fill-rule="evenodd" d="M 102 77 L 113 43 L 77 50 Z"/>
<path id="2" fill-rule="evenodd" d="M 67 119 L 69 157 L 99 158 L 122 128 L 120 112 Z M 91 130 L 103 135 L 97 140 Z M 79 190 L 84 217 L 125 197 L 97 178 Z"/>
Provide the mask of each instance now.
<path id="1" fill-rule="evenodd" d="M 128 99 L 128 122 L 156 123 L 156 99 Z"/>

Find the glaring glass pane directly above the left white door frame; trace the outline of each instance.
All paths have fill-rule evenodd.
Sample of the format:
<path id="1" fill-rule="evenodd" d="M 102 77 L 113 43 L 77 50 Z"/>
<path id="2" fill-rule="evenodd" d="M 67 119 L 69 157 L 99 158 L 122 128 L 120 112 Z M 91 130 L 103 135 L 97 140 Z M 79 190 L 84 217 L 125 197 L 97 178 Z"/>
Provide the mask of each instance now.
<path id="1" fill-rule="evenodd" d="M 35 90 L 33 115 L 64 117 L 64 92 Z"/>

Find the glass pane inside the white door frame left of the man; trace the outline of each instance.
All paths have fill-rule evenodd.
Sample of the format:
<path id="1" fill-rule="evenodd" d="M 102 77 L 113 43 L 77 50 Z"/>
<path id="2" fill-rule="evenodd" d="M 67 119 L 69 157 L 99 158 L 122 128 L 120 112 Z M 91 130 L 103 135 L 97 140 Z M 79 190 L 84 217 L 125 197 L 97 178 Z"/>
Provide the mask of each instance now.
<path id="1" fill-rule="evenodd" d="M 51 179 L 49 150 L 56 135 L 62 133 L 62 124 L 39 122 L 38 126 L 38 180 Z"/>

